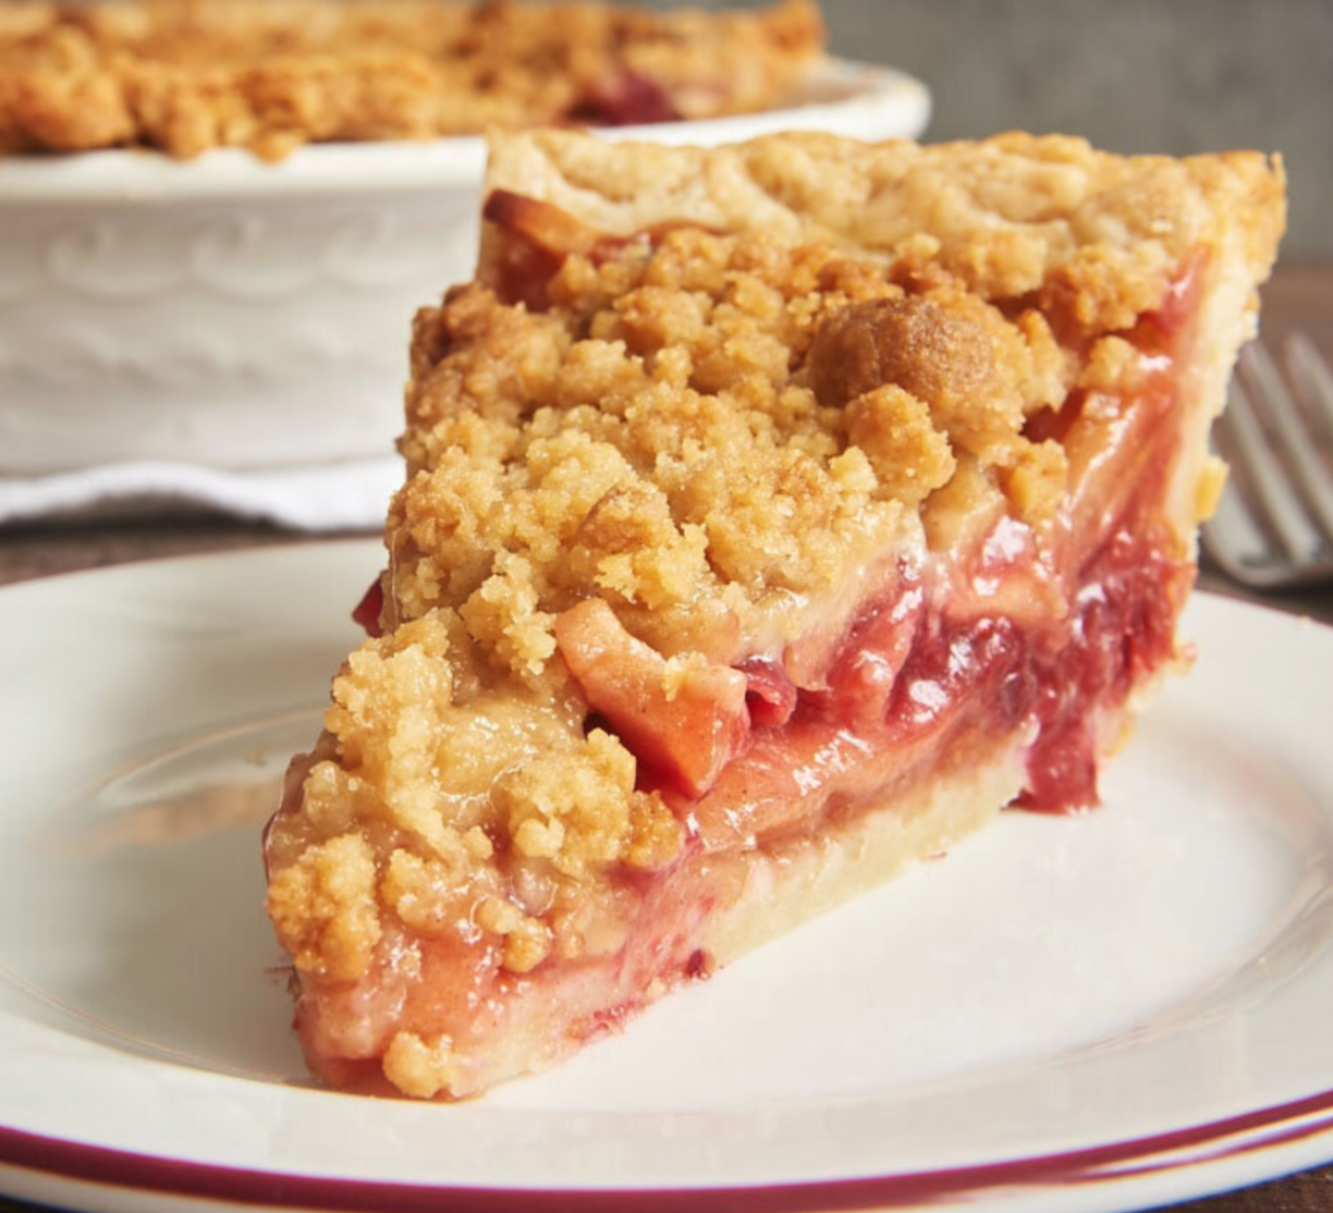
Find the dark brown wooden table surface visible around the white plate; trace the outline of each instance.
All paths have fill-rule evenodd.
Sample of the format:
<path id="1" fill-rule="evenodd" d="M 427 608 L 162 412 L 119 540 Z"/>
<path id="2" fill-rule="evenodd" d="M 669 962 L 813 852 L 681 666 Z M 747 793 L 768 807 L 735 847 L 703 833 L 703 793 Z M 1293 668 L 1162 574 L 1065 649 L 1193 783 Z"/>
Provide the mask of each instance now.
<path id="1" fill-rule="evenodd" d="M 1333 267 L 1281 267 L 1265 291 L 1264 307 L 1266 337 L 1280 337 L 1300 325 L 1333 352 Z M 0 527 L 0 585 L 133 560 L 292 540 L 292 535 L 272 528 L 205 519 Z M 1205 589 L 1240 595 L 1234 587 L 1208 571 L 1201 576 L 1201 585 Z M 1265 601 L 1280 609 L 1333 622 L 1333 588 L 1270 596 Z M 1172 1208 L 1174 1213 L 1333 1213 L 1333 1166 Z M 32 1209 L 32 1205 L 0 1197 L 0 1213 L 31 1213 Z"/>

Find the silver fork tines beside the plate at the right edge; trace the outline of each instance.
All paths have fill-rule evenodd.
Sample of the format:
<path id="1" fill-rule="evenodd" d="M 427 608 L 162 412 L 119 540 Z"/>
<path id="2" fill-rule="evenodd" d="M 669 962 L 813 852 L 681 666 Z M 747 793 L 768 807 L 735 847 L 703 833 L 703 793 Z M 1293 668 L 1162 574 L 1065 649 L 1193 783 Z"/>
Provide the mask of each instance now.
<path id="1" fill-rule="evenodd" d="M 1333 373 L 1304 333 L 1284 355 L 1285 376 L 1258 341 L 1241 351 L 1214 431 L 1232 477 L 1204 549 L 1256 589 L 1333 580 Z"/>

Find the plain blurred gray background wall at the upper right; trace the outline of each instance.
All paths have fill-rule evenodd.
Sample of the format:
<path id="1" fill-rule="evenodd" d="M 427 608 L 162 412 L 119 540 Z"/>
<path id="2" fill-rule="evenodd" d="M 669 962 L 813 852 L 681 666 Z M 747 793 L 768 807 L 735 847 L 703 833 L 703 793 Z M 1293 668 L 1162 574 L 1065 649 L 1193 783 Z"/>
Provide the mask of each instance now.
<path id="1" fill-rule="evenodd" d="M 1333 256 L 1333 0 L 822 7 L 836 53 L 930 87 L 928 139 L 1025 129 L 1085 135 L 1117 152 L 1280 151 L 1292 192 L 1284 256 Z"/>

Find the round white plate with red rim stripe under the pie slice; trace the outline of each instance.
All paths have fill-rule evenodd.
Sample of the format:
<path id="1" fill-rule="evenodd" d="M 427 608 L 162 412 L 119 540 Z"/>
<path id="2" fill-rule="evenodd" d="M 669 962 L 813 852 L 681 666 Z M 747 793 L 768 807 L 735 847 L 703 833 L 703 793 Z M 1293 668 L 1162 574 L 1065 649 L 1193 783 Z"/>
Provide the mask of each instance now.
<path id="1" fill-rule="evenodd" d="M 331 1094 L 259 828 L 377 544 L 0 593 L 0 1190 L 89 1210 L 1140 1208 L 1333 1157 L 1333 630 L 1216 599 L 1078 818 L 1012 813 L 459 1106 Z"/>

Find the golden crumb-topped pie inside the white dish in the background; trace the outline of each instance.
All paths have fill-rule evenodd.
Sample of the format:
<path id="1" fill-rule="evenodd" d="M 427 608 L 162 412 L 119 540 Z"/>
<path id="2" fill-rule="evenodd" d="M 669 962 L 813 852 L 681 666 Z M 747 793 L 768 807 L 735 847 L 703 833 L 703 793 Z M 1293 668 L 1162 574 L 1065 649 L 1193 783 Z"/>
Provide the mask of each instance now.
<path id="1" fill-rule="evenodd" d="M 0 152 L 428 139 L 769 109 L 820 57 L 814 0 L 655 13 L 603 0 L 0 4 Z"/>

